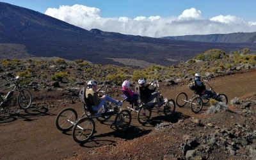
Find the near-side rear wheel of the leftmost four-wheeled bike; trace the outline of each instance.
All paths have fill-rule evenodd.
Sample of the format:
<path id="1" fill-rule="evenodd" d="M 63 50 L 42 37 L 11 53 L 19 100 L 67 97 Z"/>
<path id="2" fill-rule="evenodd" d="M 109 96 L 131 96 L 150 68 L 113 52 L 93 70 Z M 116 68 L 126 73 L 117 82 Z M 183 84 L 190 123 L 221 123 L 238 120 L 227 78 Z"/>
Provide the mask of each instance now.
<path id="1" fill-rule="evenodd" d="M 92 118 L 84 117 L 75 124 L 72 136 L 77 143 L 86 143 L 92 138 L 94 132 L 95 122 Z"/>

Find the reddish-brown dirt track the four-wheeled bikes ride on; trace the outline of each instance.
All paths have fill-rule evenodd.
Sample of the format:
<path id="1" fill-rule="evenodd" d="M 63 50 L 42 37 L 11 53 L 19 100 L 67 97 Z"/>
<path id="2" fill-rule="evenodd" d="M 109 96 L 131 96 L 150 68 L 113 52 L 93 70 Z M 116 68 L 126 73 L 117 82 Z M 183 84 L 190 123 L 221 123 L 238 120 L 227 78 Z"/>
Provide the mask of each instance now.
<path id="1" fill-rule="evenodd" d="M 256 92 L 256 72 L 236 74 L 226 77 L 212 79 L 211 84 L 216 92 L 225 93 L 228 101 L 234 97 L 241 97 L 247 93 Z M 188 86 L 180 86 L 171 90 L 163 90 L 165 97 L 175 99 L 179 92 L 192 92 Z M 189 95 L 191 96 L 191 95 Z M 61 102 L 60 102 L 61 104 Z M 75 108 L 79 115 L 82 113 L 81 102 L 70 105 Z M 83 154 L 92 150 L 93 147 L 107 145 L 126 138 L 133 138 L 148 134 L 154 130 L 154 125 L 163 121 L 162 116 L 154 113 L 152 122 L 145 126 L 138 124 L 136 115 L 132 114 L 131 134 L 125 136 L 115 132 L 110 124 L 100 124 L 96 122 L 96 133 L 94 139 L 84 145 L 77 144 L 71 135 L 71 131 L 62 133 L 56 129 L 55 118 L 58 112 L 67 106 L 55 105 L 52 108 L 32 109 L 29 113 L 18 113 L 12 116 L 0 116 L 0 158 L 1 159 L 65 159 L 67 157 Z M 198 116 L 191 112 L 188 106 L 176 108 L 176 111 L 183 116 Z M 180 116 L 179 115 L 179 116 Z M 179 117 L 178 117 L 179 118 Z M 170 120 L 177 122 L 177 120 Z"/>

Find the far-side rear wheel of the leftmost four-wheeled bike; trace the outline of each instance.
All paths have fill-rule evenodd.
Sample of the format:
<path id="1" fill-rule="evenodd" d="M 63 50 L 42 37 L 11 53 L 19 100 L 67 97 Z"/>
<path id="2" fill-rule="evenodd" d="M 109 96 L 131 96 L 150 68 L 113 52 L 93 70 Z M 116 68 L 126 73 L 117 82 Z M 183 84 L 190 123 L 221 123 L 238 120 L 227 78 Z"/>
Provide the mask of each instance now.
<path id="1" fill-rule="evenodd" d="M 56 127 L 60 131 L 68 131 L 72 129 L 77 120 L 77 112 L 73 108 L 66 108 L 60 111 L 56 117 Z"/>

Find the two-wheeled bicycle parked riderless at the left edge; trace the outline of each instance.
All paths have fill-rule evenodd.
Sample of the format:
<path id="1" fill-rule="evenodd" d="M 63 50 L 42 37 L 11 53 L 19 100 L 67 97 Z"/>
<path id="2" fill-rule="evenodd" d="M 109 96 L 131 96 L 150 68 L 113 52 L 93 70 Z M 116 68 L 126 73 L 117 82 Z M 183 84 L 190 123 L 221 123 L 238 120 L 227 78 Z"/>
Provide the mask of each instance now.
<path id="1" fill-rule="evenodd" d="M 4 88 L 4 90 L 0 91 L 0 108 L 5 108 L 6 106 L 8 106 L 11 102 L 13 93 L 18 89 L 18 95 L 17 95 L 17 102 L 19 104 L 19 107 L 21 109 L 29 109 L 31 107 L 32 104 L 32 95 L 29 92 L 29 90 L 23 88 L 22 86 L 20 86 L 20 79 L 24 79 L 24 77 L 19 77 L 17 76 L 15 79 L 9 79 L 8 81 L 11 82 L 10 86 L 8 86 L 7 88 Z M 9 90 L 10 88 L 12 88 L 12 90 L 10 92 L 8 92 L 5 96 L 4 96 L 4 91 Z"/>

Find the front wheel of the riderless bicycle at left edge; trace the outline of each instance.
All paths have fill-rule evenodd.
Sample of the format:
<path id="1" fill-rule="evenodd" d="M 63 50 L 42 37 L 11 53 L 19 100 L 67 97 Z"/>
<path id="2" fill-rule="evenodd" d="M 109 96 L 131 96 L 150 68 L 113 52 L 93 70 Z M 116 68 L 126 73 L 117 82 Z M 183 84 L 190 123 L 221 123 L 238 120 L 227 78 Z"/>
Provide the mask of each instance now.
<path id="1" fill-rule="evenodd" d="M 20 90 L 17 100 L 21 109 L 28 109 L 32 104 L 32 95 L 29 90 L 23 89 Z"/>

